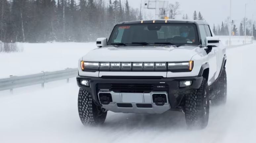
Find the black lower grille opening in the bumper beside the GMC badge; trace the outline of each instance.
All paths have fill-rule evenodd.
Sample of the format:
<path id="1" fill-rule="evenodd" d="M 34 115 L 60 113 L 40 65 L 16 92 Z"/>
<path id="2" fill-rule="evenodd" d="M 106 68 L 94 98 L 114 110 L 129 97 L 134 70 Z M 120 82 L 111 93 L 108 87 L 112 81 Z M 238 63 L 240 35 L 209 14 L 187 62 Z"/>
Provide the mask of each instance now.
<path id="1" fill-rule="evenodd" d="M 151 91 L 168 91 L 167 84 L 97 84 L 98 90 L 109 89 L 124 93 L 149 93 Z"/>

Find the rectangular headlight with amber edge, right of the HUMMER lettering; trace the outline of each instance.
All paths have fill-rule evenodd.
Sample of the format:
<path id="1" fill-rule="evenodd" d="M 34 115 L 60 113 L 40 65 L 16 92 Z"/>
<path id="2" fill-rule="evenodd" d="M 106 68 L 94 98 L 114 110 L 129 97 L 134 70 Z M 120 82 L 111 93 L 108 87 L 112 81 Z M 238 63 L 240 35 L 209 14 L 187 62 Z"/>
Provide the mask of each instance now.
<path id="1" fill-rule="evenodd" d="M 170 72 L 190 72 L 193 69 L 193 61 L 168 62 Z"/>

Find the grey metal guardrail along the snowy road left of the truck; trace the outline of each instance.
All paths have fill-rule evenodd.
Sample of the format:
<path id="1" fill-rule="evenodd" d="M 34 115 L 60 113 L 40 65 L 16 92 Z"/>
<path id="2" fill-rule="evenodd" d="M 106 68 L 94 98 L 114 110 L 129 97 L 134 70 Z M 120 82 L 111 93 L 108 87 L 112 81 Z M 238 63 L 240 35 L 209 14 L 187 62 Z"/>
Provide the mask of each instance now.
<path id="1" fill-rule="evenodd" d="M 0 91 L 10 90 L 11 92 L 13 92 L 13 89 L 15 88 L 21 88 L 37 84 L 41 84 L 43 88 L 45 83 L 64 79 L 69 82 L 69 78 L 75 77 L 77 73 L 77 68 L 66 68 L 65 70 L 60 71 L 42 71 L 42 73 L 25 76 L 10 76 L 10 78 L 0 79 Z"/>

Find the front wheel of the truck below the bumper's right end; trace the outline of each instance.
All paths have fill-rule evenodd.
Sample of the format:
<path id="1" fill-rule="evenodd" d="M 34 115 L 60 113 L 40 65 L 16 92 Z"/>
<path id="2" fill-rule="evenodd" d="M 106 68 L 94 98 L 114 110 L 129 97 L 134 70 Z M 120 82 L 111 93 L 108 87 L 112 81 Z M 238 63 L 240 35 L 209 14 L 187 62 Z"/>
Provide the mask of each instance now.
<path id="1" fill-rule="evenodd" d="M 192 89 L 186 95 L 185 118 L 190 128 L 205 128 L 209 119 L 209 88 L 203 78 L 199 89 Z"/>

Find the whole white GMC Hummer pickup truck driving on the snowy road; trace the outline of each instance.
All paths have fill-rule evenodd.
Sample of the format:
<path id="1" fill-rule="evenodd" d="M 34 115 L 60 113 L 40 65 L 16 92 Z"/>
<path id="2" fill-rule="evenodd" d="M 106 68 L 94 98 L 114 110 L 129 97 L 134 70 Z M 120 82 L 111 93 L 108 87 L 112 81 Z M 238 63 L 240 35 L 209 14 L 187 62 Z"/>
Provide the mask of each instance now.
<path id="1" fill-rule="evenodd" d="M 209 104 L 225 104 L 226 48 L 205 21 L 146 20 L 116 24 L 97 49 L 79 59 L 78 112 L 84 125 L 107 111 L 185 113 L 205 128 Z"/>

